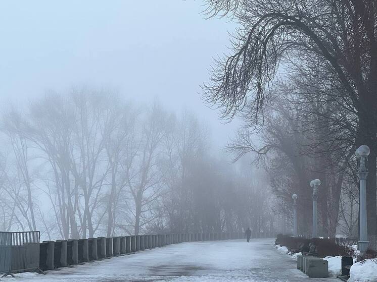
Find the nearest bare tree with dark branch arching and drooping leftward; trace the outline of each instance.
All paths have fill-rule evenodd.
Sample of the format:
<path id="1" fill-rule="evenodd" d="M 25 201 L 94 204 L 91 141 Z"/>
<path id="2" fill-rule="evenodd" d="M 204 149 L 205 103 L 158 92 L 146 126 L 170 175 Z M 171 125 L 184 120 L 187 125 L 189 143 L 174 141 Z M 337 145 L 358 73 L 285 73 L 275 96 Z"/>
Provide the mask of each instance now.
<path id="1" fill-rule="evenodd" d="M 221 0 L 207 1 L 210 15 L 228 14 L 240 23 L 232 40 L 233 54 L 219 60 L 206 85 L 209 102 L 233 116 L 250 101 L 248 115 L 256 118 L 270 98 L 273 78 L 282 59 L 302 51 L 326 62 L 357 113 L 355 146 L 367 144 L 368 232 L 377 232 L 376 155 L 377 36 L 375 2 Z"/>

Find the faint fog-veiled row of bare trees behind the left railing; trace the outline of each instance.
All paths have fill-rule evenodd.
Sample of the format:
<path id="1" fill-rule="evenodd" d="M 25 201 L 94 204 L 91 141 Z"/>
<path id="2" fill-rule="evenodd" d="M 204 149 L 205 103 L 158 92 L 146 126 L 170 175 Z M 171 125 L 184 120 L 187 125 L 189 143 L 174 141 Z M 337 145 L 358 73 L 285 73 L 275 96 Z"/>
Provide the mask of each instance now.
<path id="1" fill-rule="evenodd" d="M 267 184 L 215 156 L 190 112 L 82 88 L 5 109 L 0 130 L 2 230 L 67 239 L 274 228 L 267 189 L 256 189 Z"/>

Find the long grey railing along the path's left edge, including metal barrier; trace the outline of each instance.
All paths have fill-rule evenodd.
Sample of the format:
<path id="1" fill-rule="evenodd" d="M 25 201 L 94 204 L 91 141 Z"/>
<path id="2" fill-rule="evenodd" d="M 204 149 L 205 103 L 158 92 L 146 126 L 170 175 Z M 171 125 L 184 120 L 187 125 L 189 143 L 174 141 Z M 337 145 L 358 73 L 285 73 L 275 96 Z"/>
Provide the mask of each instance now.
<path id="1" fill-rule="evenodd" d="M 252 237 L 274 236 L 272 233 L 254 233 Z M 39 232 L 0 232 L 0 273 L 54 270 L 176 243 L 244 238 L 243 232 L 219 232 L 99 237 L 39 243 Z"/>

